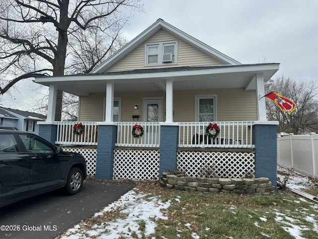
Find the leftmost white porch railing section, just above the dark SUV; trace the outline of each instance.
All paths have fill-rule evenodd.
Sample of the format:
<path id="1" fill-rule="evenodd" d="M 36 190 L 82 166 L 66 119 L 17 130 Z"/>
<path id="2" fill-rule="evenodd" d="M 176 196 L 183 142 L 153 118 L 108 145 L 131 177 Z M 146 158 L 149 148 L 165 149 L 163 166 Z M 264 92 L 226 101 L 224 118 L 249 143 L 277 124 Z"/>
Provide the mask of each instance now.
<path id="1" fill-rule="evenodd" d="M 74 133 L 74 125 L 81 123 L 83 131 L 81 134 Z M 97 145 L 97 122 L 57 122 L 56 142 L 58 144 L 73 144 L 73 145 Z"/>

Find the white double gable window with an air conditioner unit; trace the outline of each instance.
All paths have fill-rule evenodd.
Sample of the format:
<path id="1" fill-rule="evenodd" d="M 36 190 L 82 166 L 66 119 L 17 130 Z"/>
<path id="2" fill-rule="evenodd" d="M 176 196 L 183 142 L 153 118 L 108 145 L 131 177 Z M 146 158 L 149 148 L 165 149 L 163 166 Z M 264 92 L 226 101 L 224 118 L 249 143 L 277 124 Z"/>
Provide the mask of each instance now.
<path id="1" fill-rule="evenodd" d="M 177 41 L 147 43 L 145 52 L 145 66 L 177 63 Z"/>

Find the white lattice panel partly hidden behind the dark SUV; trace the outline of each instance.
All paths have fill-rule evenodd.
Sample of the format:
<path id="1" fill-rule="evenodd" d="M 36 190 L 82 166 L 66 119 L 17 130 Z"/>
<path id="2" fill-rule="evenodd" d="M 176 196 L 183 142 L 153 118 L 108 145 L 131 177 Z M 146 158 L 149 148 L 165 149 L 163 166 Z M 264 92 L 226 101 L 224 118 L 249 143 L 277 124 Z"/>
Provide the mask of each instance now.
<path id="1" fill-rule="evenodd" d="M 87 163 L 87 174 L 88 175 L 95 175 L 96 174 L 96 155 L 97 149 L 96 148 L 62 148 L 64 151 L 67 152 L 76 152 L 80 153 L 84 156 L 86 163 Z"/>

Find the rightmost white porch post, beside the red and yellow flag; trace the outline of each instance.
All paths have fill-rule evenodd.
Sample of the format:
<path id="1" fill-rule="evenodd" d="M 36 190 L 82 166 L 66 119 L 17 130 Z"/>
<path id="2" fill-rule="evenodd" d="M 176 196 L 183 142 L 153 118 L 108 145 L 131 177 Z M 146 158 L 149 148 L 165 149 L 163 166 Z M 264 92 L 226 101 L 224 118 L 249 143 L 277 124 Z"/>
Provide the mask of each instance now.
<path id="1" fill-rule="evenodd" d="M 256 74 L 257 120 L 261 120 L 261 121 L 267 120 L 265 97 L 263 97 L 264 95 L 265 95 L 264 75 L 263 73 L 257 73 Z"/>

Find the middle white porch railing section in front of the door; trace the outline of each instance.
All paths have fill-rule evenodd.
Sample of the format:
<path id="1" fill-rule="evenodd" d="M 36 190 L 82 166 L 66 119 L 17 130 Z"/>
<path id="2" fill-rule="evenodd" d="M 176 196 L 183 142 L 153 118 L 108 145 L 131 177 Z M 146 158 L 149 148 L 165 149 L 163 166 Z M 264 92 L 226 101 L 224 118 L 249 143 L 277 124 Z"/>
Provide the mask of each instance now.
<path id="1" fill-rule="evenodd" d="M 132 130 L 135 124 L 143 127 L 142 137 L 133 136 Z M 160 145 L 159 122 L 118 122 L 117 130 L 116 146 L 159 147 Z"/>

